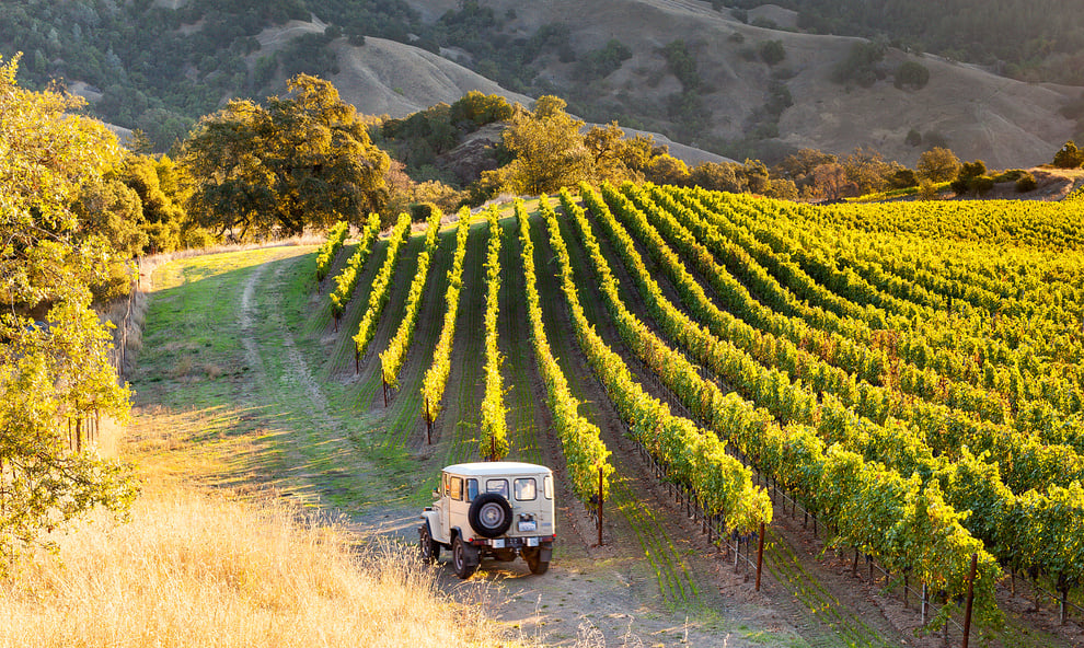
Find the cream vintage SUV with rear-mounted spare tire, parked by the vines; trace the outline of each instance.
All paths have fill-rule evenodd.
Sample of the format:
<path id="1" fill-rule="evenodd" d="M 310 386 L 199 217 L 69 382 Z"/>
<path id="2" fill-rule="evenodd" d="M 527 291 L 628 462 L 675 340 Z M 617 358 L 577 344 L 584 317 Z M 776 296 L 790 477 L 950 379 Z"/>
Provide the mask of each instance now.
<path id="1" fill-rule="evenodd" d="M 422 558 L 434 563 L 450 548 L 460 578 L 470 578 L 483 557 L 515 560 L 532 574 L 550 567 L 555 535 L 553 471 L 509 461 L 460 463 L 441 471 L 440 489 L 422 512 Z"/>

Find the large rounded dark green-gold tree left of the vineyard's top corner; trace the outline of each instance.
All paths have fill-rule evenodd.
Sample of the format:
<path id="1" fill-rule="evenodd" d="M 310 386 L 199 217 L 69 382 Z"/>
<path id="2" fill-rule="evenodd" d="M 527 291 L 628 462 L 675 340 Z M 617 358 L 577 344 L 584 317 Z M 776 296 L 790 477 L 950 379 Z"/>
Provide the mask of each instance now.
<path id="1" fill-rule="evenodd" d="M 300 234 L 380 209 L 390 160 L 328 81 L 300 74 L 290 95 L 231 101 L 185 142 L 187 208 L 235 240 Z"/>

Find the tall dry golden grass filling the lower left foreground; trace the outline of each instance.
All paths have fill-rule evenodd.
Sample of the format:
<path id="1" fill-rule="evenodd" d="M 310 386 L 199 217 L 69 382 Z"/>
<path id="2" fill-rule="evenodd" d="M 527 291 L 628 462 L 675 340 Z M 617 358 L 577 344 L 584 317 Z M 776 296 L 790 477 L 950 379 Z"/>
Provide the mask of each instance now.
<path id="1" fill-rule="evenodd" d="M 92 517 L 0 583 L 2 647 L 508 646 L 413 552 L 186 487 Z"/>

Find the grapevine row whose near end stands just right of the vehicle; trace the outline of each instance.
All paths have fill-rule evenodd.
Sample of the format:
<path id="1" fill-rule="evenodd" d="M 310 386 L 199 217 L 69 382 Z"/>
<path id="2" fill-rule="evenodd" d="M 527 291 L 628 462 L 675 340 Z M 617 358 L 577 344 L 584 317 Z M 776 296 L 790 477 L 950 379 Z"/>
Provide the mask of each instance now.
<path id="1" fill-rule="evenodd" d="M 516 201 L 516 219 L 519 221 L 520 254 L 534 359 L 542 382 L 545 383 L 546 405 L 553 414 L 553 427 L 561 440 L 568 479 L 573 491 L 581 501 L 587 502 L 592 496 L 604 501 L 609 499 L 610 477 L 613 475 L 613 466 L 607 461 L 610 451 L 602 442 L 598 426 L 579 415 L 579 401 L 568 391 L 568 381 L 550 349 L 534 274 L 534 244 L 531 242 L 530 223 L 522 200 Z"/>

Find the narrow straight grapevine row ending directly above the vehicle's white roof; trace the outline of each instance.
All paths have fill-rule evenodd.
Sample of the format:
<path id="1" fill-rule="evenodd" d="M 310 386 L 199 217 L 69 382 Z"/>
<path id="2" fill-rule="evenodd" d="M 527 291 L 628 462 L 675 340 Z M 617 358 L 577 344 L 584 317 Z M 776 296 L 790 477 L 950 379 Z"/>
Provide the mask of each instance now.
<path id="1" fill-rule="evenodd" d="M 485 397 L 482 400 L 482 429 L 478 454 L 499 461 L 508 454 L 508 424 L 505 419 L 503 359 L 497 349 L 497 311 L 500 292 L 500 228 L 496 209 L 486 211 L 489 245 L 485 258 Z"/>

